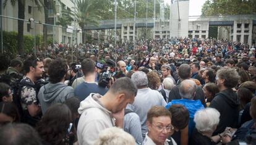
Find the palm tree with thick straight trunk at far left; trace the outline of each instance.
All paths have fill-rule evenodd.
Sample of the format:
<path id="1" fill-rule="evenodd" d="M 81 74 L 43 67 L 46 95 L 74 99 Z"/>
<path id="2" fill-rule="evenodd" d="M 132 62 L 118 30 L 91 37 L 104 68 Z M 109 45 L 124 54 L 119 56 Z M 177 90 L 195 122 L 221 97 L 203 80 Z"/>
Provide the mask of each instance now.
<path id="1" fill-rule="evenodd" d="M 4 7 L 6 7 L 8 0 L 4 0 Z M 11 0 L 12 6 L 15 6 L 16 2 L 18 1 L 18 18 L 19 19 L 25 19 L 25 0 Z M 40 9 L 40 4 L 43 5 L 43 2 L 41 0 L 33 0 L 35 1 L 35 4 L 38 6 L 38 9 Z M 18 52 L 19 54 L 24 54 L 24 38 L 23 38 L 23 27 L 24 22 L 23 20 L 18 20 Z"/>

